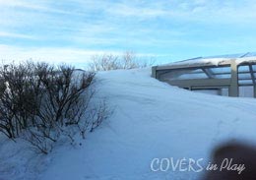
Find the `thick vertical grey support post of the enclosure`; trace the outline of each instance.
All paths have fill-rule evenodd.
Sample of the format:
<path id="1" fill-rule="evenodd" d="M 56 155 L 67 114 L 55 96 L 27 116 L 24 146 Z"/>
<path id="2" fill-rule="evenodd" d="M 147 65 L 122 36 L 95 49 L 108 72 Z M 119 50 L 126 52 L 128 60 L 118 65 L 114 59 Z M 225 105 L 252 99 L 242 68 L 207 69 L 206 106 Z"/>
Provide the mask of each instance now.
<path id="1" fill-rule="evenodd" d="M 230 81 L 228 96 L 238 96 L 239 95 L 238 74 L 237 74 L 237 64 L 235 63 L 235 60 L 230 61 L 230 67 L 231 67 L 231 81 Z"/>

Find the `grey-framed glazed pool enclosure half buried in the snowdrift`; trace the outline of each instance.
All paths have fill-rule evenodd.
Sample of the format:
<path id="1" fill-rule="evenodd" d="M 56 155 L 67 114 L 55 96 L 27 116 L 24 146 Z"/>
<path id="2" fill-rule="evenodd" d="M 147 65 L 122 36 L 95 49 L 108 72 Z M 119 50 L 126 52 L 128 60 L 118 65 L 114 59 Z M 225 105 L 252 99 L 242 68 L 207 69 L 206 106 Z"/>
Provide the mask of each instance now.
<path id="1" fill-rule="evenodd" d="M 256 54 L 199 57 L 154 66 L 152 76 L 186 90 L 256 97 Z"/>

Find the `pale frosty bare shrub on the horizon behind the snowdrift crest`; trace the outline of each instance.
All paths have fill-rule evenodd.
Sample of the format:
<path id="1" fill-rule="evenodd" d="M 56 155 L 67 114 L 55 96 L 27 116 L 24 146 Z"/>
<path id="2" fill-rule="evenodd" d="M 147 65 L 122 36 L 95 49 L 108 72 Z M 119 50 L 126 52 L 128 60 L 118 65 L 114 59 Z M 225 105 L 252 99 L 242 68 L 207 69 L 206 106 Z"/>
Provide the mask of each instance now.
<path id="1" fill-rule="evenodd" d="M 133 51 L 126 51 L 122 56 L 103 54 L 95 55 L 89 64 L 90 71 L 109 71 L 117 69 L 135 69 L 152 66 L 153 58 L 139 58 Z"/>

